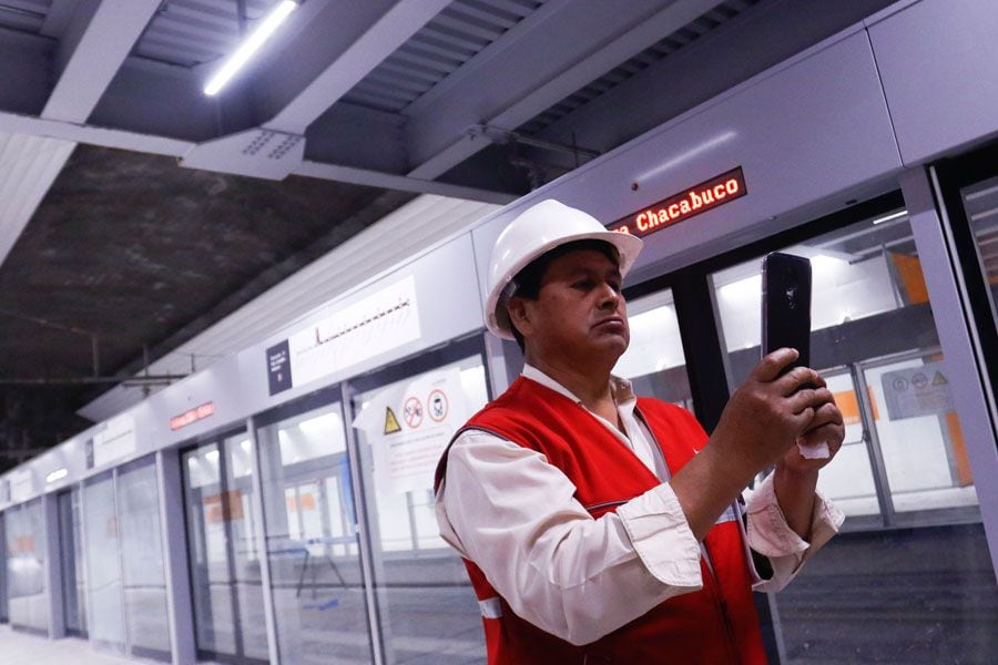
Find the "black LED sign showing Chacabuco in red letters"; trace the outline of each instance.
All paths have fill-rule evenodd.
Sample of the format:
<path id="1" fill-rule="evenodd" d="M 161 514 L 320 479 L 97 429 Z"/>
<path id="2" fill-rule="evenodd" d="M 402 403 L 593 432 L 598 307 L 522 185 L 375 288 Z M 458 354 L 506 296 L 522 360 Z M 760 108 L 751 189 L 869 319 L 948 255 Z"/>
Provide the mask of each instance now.
<path id="1" fill-rule="evenodd" d="M 654 205 L 641 208 L 613 224 L 609 228 L 635 236 L 646 236 L 666 226 L 679 224 L 690 217 L 705 213 L 748 193 L 742 167 L 732 168 L 716 177 L 702 182 L 679 194 L 663 198 Z"/>

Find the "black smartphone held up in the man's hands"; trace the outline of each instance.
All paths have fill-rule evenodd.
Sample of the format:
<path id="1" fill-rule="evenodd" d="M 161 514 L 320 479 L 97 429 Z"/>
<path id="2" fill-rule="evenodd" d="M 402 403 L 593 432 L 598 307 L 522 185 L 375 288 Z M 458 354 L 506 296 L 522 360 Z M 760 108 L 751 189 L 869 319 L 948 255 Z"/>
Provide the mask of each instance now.
<path id="1" fill-rule="evenodd" d="M 801 356 L 782 374 L 811 365 L 811 262 L 774 252 L 762 266 L 762 352 L 791 347 Z"/>

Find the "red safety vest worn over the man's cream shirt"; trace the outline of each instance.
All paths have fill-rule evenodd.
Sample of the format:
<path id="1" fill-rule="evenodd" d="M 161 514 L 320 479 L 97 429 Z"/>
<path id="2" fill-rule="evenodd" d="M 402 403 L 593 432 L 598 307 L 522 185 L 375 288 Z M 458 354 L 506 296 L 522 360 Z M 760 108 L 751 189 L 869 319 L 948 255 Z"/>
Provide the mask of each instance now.
<path id="1" fill-rule="evenodd" d="M 637 411 L 673 474 L 706 442 L 703 428 L 684 409 L 639 398 Z M 661 482 L 589 411 L 522 377 L 464 429 L 486 430 L 544 454 L 574 483 L 576 499 L 594 519 Z M 437 487 L 442 481 L 446 461 L 445 452 L 437 468 Z M 737 523 L 715 524 L 704 544 L 713 571 L 701 557 L 701 591 L 673 596 L 583 646 L 574 646 L 513 614 L 481 569 L 465 560 L 479 602 L 495 608 L 482 612 L 489 663 L 765 664 L 752 600 L 752 575 Z"/>

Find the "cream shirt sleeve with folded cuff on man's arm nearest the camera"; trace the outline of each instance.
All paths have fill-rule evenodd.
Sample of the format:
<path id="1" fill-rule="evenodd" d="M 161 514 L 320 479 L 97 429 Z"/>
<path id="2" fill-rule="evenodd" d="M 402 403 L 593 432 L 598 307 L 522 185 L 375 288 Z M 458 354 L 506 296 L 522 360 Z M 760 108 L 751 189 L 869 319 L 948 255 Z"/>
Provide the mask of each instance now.
<path id="1" fill-rule="evenodd" d="M 544 456 L 469 430 L 437 492 L 442 538 L 521 617 L 588 644 L 702 585 L 700 544 L 668 483 L 593 519 Z"/>

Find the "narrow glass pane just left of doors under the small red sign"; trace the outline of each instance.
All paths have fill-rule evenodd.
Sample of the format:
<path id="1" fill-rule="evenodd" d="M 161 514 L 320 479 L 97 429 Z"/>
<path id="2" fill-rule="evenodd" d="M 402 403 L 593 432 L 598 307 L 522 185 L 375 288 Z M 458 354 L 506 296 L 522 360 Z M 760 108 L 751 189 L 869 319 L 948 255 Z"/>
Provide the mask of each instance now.
<path id="1" fill-rule="evenodd" d="M 125 621 L 133 655 L 170 659 L 160 489 L 154 458 L 118 474 Z"/>

